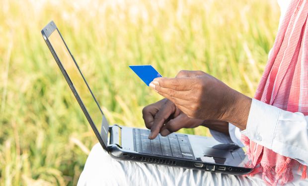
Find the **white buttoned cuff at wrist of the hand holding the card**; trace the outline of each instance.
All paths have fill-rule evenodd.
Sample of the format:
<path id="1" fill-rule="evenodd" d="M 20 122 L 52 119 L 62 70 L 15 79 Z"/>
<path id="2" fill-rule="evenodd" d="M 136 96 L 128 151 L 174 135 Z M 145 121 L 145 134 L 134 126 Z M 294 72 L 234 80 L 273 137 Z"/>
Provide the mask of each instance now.
<path id="1" fill-rule="evenodd" d="M 246 129 L 241 133 L 251 141 L 272 149 L 280 109 L 252 99 Z"/>

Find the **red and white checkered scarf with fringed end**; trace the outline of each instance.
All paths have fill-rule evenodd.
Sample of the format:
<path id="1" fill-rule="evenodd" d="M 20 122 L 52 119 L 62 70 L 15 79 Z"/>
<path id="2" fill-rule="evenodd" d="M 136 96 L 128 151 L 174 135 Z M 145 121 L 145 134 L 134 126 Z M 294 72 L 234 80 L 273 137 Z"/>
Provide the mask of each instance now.
<path id="1" fill-rule="evenodd" d="M 255 99 L 290 112 L 308 115 L 308 1 L 292 0 L 278 29 Z M 299 166 L 302 179 L 307 167 L 282 156 L 242 135 L 247 154 L 255 166 L 250 175 L 262 172 L 267 185 L 285 184 L 294 179 L 292 168 Z"/>

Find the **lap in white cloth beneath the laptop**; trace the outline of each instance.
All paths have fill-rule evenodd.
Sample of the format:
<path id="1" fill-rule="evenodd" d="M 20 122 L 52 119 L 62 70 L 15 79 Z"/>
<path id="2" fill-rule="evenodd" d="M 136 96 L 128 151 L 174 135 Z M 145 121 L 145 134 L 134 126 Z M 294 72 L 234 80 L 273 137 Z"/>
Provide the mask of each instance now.
<path id="1" fill-rule="evenodd" d="M 264 185 L 260 175 L 243 177 L 145 164 L 112 158 L 97 143 L 91 150 L 77 186 L 255 186 Z"/>

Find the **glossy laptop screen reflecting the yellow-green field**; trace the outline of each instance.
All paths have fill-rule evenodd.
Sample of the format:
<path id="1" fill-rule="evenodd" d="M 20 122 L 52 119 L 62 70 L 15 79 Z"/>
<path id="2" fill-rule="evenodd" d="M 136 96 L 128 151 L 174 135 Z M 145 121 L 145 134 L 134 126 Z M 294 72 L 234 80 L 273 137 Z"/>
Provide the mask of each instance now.
<path id="1" fill-rule="evenodd" d="M 53 24 L 51 24 L 53 25 Z M 74 92 L 76 98 L 79 97 L 79 104 L 82 108 L 85 115 L 88 115 L 91 122 L 95 125 L 96 130 L 98 130 L 100 136 L 103 139 L 104 144 L 107 146 L 107 137 L 108 137 L 108 123 L 97 103 L 94 95 L 92 94 L 90 87 L 86 83 L 80 69 L 77 66 L 77 63 L 71 56 L 69 49 L 67 48 L 64 40 L 62 39 L 58 29 L 55 27 L 54 31 L 50 33 L 47 42 L 50 43 L 52 49 L 54 50 L 54 57 L 55 59 L 58 58 L 60 61 L 60 65 L 63 66 L 64 70 L 66 71 L 69 79 L 71 80 L 71 88 L 75 89 L 76 93 Z M 56 59 L 57 61 L 57 59 Z M 59 63 L 58 63 L 59 64 Z M 73 85 L 73 86 L 72 86 Z M 77 98 L 78 100 L 78 98 Z M 89 120 L 89 119 L 88 119 Z"/>

